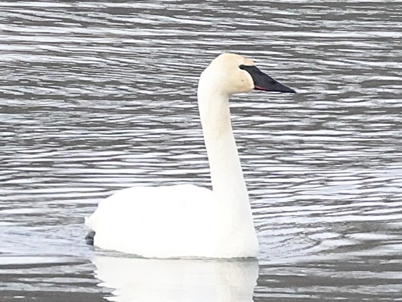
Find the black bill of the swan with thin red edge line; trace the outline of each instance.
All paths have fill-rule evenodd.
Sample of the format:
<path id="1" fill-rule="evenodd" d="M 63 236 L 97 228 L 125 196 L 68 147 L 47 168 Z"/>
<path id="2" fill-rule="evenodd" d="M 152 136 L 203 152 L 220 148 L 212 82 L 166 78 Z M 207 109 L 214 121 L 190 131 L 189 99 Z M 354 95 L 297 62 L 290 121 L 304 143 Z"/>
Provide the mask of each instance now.
<path id="1" fill-rule="evenodd" d="M 240 65 L 239 68 L 247 71 L 251 75 L 255 90 L 296 93 L 292 88 L 272 79 L 256 66 Z"/>

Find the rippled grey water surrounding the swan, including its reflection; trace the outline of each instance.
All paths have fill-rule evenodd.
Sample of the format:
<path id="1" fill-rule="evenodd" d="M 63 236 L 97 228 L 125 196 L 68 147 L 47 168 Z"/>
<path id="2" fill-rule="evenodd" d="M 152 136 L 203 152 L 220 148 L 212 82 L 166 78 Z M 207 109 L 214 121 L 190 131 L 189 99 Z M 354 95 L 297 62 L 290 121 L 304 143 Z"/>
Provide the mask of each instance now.
<path id="1" fill-rule="evenodd" d="M 401 4 L 2 1 L 0 300 L 402 300 Z M 210 185 L 196 87 L 228 51 L 299 92 L 232 100 L 258 263 L 86 246 L 118 189 Z"/>

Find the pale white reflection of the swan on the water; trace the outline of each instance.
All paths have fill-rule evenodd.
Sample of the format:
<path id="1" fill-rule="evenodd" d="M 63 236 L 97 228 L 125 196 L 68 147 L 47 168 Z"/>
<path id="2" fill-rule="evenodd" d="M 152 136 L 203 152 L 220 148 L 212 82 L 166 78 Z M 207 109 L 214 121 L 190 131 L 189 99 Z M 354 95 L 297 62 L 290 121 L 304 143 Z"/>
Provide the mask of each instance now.
<path id="1" fill-rule="evenodd" d="M 119 302 L 251 302 L 258 261 L 144 259 L 97 255 L 99 285 Z"/>

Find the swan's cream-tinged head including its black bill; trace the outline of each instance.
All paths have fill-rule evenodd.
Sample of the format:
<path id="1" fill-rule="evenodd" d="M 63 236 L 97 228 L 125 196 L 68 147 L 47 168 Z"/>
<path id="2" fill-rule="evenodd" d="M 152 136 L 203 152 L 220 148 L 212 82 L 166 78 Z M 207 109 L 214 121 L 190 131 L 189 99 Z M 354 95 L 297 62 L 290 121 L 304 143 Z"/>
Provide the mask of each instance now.
<path id="1" fill-rule="evenodd" d="M 232 95 L 250 90 L 296 93 L 258 69 L 252 60 L 236 54 L 222 54 L 202 72 L 199 91 Z"/>

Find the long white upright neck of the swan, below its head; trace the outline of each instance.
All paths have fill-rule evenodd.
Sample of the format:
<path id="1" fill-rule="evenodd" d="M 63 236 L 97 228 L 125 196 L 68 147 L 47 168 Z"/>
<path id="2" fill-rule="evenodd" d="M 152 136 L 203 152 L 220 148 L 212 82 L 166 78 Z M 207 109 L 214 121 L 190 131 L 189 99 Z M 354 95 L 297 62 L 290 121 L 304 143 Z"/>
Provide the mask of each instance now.
<path id="1" fill-rule="evenodd" d="M 214 198 L 234 228 L 245 225 L 252 228 L 247 188 L 232 130 L 229 96 L 209 89 L 200 81 L 198 102 Z"/>

